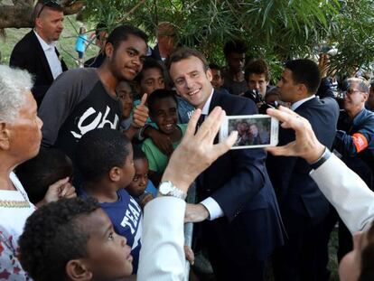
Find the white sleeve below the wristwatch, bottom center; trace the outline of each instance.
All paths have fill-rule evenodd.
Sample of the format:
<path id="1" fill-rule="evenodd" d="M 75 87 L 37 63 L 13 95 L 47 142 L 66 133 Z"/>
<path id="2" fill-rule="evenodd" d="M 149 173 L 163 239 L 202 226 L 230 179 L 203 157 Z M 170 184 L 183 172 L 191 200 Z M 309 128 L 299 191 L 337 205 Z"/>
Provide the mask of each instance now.
<path id="1" fill-rule="evenodd" d="M 185 280 L 185 209 L 186 202 L 172 196 L 145 205 L 138 281 Z"/>

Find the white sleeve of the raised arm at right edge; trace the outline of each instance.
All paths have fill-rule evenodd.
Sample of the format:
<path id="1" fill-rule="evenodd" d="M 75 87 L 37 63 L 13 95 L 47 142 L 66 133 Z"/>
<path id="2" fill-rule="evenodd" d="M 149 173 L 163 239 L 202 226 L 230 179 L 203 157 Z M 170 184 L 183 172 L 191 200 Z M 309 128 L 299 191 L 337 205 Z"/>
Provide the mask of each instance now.
<path id="1" fill-rule="evenodd" d="M 351 232 L 369 229 L 374 219 L 374 192 L 335 155 L 310 173 Z"/>

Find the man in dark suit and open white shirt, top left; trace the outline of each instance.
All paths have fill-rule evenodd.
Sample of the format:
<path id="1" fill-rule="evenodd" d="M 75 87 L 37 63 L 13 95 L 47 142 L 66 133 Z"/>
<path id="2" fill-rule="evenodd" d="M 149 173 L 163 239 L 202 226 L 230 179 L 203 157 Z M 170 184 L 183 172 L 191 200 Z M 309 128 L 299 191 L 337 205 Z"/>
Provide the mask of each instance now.
<path id="1" fill-rule="evenodd" d="M 58 0 L 38 2 L 33 16 L 34 29 L 16 43 L 9 64 L 33 74 L 32 92 L 39 107 L 53 80 L 68 68 L 55 47 L 63 29 L 63 12 Z"/>

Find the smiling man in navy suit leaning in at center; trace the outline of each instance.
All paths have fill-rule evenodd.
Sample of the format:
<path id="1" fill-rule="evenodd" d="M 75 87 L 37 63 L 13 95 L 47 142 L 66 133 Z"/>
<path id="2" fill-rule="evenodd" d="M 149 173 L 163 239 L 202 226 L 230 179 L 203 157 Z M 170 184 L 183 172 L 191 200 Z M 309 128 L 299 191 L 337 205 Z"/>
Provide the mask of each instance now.
<path id="1" fill-rule="evenodd" d="M 203 115 L 215 107 L 229 116 L 257 113 L 248 98 L 214 91 L 200 52 L 179 49 L 171 54 L 167 67 L 179 94 L 201 108 Z M 203 201 L 188 204 L 186 221 L 203 221 L 203 243 L 217 280 L 264 280 L 266 259 L 283 243 L 265 158 L 262 149 L 231 150 L 197 180 Z"/>

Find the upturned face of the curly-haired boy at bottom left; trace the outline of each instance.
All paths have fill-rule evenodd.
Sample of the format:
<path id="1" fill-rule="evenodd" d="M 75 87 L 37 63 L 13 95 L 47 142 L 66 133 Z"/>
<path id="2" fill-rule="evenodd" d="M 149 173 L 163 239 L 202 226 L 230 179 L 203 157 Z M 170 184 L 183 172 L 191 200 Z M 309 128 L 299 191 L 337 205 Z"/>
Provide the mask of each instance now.
<path id="1" fill-rule="evenodd" d="M 81 220 L 82 229 L 89 233 L 88 258 L 82 258 L 92 280 L 117 280 L 133 272 L 131 248 L 126 238 L 117 235 L 108 215 L 98 209 Z"/>

